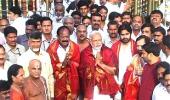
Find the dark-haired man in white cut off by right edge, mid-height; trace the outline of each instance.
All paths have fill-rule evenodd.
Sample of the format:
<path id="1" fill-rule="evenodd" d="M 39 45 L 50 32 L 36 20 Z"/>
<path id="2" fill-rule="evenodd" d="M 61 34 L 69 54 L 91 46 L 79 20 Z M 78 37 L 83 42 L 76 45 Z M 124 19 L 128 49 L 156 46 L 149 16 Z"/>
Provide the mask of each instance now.
<path id="1" fill-rule="evenodd" d="M 170 64 L 170 35 L 164 36 L 163 38 L 163 48 L 162 51 L 166 55 L 166 59 L 163 59 L 164 61 L 167 61 Z"/>

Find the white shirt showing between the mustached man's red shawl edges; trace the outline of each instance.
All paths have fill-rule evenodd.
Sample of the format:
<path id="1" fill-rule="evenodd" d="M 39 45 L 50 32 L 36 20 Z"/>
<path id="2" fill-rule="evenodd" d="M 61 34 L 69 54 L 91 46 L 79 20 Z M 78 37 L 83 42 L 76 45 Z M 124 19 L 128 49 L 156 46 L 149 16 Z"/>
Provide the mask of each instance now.
<path id="1" fill-rule="evenodd" d="M 61 45 L 58 46 L 57 55 L 58 55 L 60 62 L 64 61 L 69 49 L 70 49 L 70 44 L 66 47 L 66 49 L 64 49 Z"/>

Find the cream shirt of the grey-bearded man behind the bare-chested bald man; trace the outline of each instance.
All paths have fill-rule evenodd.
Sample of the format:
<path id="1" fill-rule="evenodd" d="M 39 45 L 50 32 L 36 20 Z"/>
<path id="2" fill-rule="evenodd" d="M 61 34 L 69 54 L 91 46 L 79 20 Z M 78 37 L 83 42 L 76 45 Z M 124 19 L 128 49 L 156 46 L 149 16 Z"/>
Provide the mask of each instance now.
<path id="1" fill-rule="evenodd" d="M 47 52 L 40 50 L 39 55 L 35 54 L 31 49 L 28 49 L 17 60 L 17 64 L 23 66 L 25 77 L 29 75 L 28 66 L 32 59 L 40 60 L 42 64 L 41 75 L 45 78 L 48 88 L 48 95 L 54 97 L 54 77 L 51 65 L 51 59 Z"/>

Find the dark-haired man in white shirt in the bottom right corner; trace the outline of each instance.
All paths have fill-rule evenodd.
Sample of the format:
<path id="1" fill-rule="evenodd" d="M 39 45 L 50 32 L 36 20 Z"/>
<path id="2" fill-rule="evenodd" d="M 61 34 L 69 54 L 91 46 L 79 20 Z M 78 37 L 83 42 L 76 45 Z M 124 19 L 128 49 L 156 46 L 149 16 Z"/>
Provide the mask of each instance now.
<path id="1" fill-rule="evenodd" d="M 157 65 L 157 74 L 160 82 L 154 89 L 152 100 L 169 100 L 170 98 L 170 65 L 167 62 L 161 62 Z"/>

